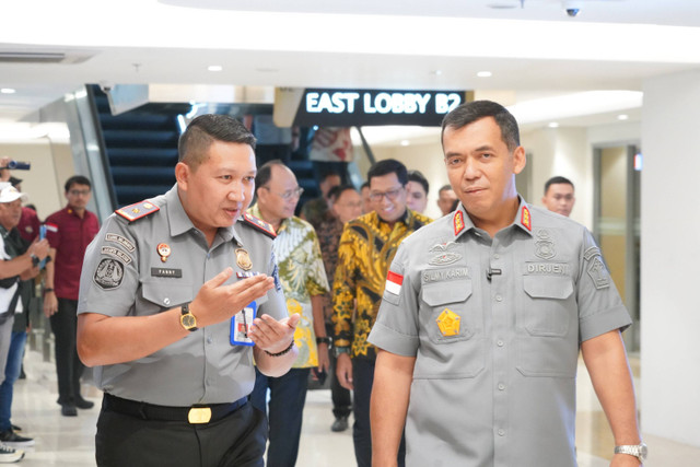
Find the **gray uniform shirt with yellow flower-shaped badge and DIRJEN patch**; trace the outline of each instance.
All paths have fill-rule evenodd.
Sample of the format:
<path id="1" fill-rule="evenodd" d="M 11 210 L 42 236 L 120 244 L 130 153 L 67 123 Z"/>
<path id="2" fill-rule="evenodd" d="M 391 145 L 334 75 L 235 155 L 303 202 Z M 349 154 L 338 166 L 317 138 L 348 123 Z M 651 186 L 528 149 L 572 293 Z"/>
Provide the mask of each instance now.
<path id="1" fill-rule="evenodd" d="M 408 237 L 370 342 L 416 357 L 410 466 L 575 466 L 582 341 L 631 320 L 588 231 L 524 201 L 494 238 L 460 206 Z"/>

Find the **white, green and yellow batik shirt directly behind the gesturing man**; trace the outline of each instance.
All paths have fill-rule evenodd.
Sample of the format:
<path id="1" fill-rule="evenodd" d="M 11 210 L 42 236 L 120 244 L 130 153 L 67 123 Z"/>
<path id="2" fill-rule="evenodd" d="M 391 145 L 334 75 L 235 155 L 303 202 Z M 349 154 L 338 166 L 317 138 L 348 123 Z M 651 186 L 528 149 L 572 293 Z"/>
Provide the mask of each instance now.
<path id="1" fill-rule="evenodd" d="M 248 209 L 248 213 L 261 218 L 257 205 Z M 299 357 L 292 366 L 295 369 L 317 366 L 318 351 L 311 297 L 327 293 L 329 287 L 314 227 L 296 217 L 284 219 L 277 231 L 272 252 L 287 297 L 287 311 L 290 315 L 293 313 L 301 315 L 294 332 Z"/>

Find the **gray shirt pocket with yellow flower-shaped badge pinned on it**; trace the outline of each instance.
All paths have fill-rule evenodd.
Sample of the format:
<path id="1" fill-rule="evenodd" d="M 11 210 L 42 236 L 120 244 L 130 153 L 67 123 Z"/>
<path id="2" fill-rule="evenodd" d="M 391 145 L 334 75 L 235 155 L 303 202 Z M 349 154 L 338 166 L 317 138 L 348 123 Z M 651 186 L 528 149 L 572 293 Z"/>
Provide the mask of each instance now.
<path id="1" fill-rule="evenodd" d="M 428 305 L 423 325 L 430 340 L 450 343 L 475 335 L 477 323 L 470 297 L 471 279 L 423 285 L 422 299 Z"/>

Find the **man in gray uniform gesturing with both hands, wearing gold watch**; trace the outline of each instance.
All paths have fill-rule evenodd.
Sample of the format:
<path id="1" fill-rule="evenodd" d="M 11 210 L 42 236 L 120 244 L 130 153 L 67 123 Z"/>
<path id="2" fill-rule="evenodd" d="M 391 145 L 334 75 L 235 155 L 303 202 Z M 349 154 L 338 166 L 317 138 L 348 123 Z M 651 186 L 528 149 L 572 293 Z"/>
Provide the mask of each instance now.
<path id="1" fill-rule="evenodd" d="M 284 374 L 299 317 L 288 317 L 273 231 L 245 215 L 254 147 L 231 117 L 195 118 L 176 186 L 117 210 L 88 248 L 78 352 L 105 392 L 98 466 L 262 466 L 253 359 Z"/>

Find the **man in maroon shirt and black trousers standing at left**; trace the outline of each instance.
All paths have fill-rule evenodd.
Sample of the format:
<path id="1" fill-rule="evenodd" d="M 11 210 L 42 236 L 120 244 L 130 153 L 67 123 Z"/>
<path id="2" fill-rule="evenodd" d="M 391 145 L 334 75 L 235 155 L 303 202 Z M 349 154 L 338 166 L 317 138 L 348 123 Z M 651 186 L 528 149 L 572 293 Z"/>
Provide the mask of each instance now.
<path id="1" fill-rule="evenodd" d="M 68 206 L 46 218 L 46 238 L 51 245 L 44 283 L 44 314 L 55 336 L 58 400 L 61 415 L 78 416 L 94 402 L 80 394 L 84 365 L 75 350 L 78 290 L 85 248 L 100 230 L 97 217 L 88 210 L 92 184 L 74 175 L 65 185 Z"/>

